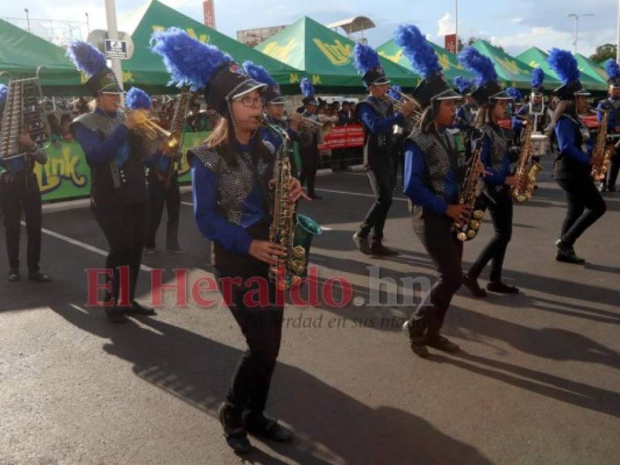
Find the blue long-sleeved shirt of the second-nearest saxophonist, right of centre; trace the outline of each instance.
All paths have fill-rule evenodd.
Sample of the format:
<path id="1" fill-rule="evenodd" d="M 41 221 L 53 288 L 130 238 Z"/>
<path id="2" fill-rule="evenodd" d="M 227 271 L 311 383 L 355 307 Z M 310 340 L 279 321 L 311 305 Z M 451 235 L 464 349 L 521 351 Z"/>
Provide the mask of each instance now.
<path id="1" fill-rule="evenodd" d="M 414 141 L 408 139 L 405 143 L 405 170 L 403 175 L 403 187 L 405 195 L 411 199 L 414 205 L 443 215 L 448 210 L 448 205 L 455 203 L 459 196 L 459 183 L 452 169 L 443 183 L 444 195 L 439 197 L 429 189 L 424 182 L 426 173 L 426 159 L 424 152 Z"/>

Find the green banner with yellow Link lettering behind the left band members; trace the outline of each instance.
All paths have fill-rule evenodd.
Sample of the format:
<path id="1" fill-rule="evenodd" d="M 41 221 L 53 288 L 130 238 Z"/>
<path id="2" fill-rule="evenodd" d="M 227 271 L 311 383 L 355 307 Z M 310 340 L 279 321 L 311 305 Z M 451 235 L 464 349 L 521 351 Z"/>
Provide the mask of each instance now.
<path id="1" fill-rule="evenodd" d="M 186 132 L 183 138 L 183 154 L 196 147 L 208 136 L 208 132 Z M 39 189 L 44 201 L 65 200 L 90 196 L 90 168 L 79 143 L 59 142 L 46 149 L 48 162 L 34 164 Z M 190 167 L 183 156 L 179 170 L 179 182 L 190 182 Z"/>

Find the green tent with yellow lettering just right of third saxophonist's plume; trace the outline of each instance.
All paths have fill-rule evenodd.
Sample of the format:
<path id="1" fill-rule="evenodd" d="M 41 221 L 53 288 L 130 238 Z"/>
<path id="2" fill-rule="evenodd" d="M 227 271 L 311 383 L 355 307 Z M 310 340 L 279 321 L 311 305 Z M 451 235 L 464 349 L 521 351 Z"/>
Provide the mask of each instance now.
<path id="1" fill-rule="evenodd" d="M 478 39 L 472 46 L 493 61 L 497 75 L 503 83 L 526 92 L 530 90 L 530 81 L 532 80 L 531 66 L 481 39 Z M 546 89 L 551 90 L 559 87 L 559 85 L 560 82 L 555 77 L 545 72 L 543 86 Z"/>

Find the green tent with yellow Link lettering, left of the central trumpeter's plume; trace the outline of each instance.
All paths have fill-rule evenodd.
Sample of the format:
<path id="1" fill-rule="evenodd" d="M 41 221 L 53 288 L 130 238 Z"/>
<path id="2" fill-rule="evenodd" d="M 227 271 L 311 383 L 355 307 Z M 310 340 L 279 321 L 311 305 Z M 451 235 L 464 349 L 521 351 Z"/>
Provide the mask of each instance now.
<path id="1" fill-rule="evenodd" d="M 305 72 L 318 92 L 363 93 L 363 82 L 353 65 L 354 45 L 341 34 L 303 17 L 256 49 Z M 383 57 L 379 60 L 392 83 L 412 89 L 419 81 L 406 68 Z"/>

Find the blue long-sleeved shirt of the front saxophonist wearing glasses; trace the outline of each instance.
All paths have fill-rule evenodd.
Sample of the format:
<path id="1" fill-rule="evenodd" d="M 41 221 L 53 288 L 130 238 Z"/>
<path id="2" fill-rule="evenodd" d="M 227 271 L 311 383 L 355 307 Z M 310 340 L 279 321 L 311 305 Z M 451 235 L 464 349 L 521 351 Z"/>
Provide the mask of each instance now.
<path id="1" fill-rule="evenodd" d="M 235 225 L 221 214 L 218 207 L 219 176 L 195 157 L 192 157 L 191 165 L 194 219 L 199 231 L 205 238 L 219 242 L 228 251 L 249 254 L 252 236 L 246 227 L 258 223 L 266 214 L 261 188 L 254 186 L 243 201 L 241 225 Z"/>

